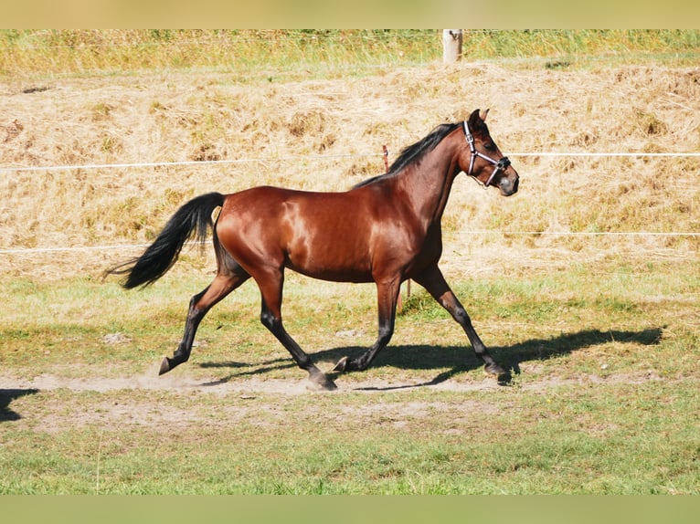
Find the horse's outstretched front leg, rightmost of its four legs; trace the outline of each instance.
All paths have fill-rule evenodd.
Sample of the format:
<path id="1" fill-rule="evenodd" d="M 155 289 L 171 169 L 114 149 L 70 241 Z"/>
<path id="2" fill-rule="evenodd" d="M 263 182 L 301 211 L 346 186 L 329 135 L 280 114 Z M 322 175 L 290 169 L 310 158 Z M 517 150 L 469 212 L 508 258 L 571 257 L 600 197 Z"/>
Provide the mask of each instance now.
<path id="1" fill-rule="evenodd" d="M 464 332 L 467 334 L 469 341 L 472 343 L 472 348 L 484 363 L 484 371 L 493 375 L 504 375 L 504 369 L 494 360 L 481 338 L 472 326 L 472 320 L 469 318 L 467 311 L 461 305 L 460 301 L 455 297 L 450 286 L 442 276 L 440 268 L 437 266 L 430 267 L 424 271 L 419 277 L 414 278 L 423 288 L 426 288 L 430 295 L 436 299 L 440 306 L 447 309 L 452 318 L 456 320 Z"/>

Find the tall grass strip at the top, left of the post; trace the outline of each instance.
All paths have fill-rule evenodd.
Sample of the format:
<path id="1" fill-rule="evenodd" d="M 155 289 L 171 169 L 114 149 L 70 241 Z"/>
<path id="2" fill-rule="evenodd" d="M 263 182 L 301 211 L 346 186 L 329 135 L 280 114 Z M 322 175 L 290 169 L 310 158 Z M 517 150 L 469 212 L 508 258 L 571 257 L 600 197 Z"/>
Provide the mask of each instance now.
<path id="1" fill-rule="evenodd" d="M 124 73 L 143 69 L 257 71 L 358 68 L 439 56 L 435 32 L 302 30 L 4 31 L 6 75 Z"/>

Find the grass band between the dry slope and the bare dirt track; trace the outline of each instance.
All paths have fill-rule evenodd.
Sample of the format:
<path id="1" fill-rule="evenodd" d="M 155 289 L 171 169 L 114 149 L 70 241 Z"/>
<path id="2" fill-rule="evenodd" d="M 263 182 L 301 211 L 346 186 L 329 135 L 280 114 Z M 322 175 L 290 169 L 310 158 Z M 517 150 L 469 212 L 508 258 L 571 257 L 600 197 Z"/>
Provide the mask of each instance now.
<path id="1" fill-rule="evenodd" d="M 152 288 L 132 292 L 123 291 L 113 281 L 84 278 L 56 283 L 10 280 L 0 295 L 8 304 L 0 320 L 4 350 L 0 362 L 37 374 L 63 361 L 93 365 L 110 359 L 114 372 L 128 373 L 134 360 L 145 363 L 169 354 L 181 336 L 189 298 L 208 283 L 206 271 L 200 276 L 187 275 L 191 270 L 181 262 L 174 275 Z M 506 354 L 510 345 L 537 352 L 538 344 L 557 337 L 558 344 L 571 344 L 574 350 L 576 344 L 588 344 L 587 337 L 593 342 L 598 337 L 613 352 L 626 338 L 655 343 L 645 337 L 653 339 L 650 333 L 657 332 L 658 338 L 664 330 L 682 332 L 691 344 L 697 341 L 691 308 L 700 288 L 695 264 L 620 265 L 605 270 L 584 265 L 531 277 L 457 281 L 454 288 L 483 339 L 502 348 L 496 351 L 505 358 L 510 358 Z M 251 282 L 217 305 L 198 333 L 197 340 L 206 350 L 195 350 L 195 357 L 217 360 L 228 353 L 256 359 L 256 351 L 261 351 L 285 358 L 286 352 L 260 325 L 259 301 L 258 289 Z M 346 349 L 360 351 L 376 335 L 376 298 L 371 285 L 321 283 L 290 274 L 283 312 L 287 329 L 310 353 L 320 352 L 322 359 L 339 358 L 348 342 Z M 355 338 L 335 337 L 345 330 L 357 331 Z M 103 340 L 117 332 L 124 333 L 128 341 L 112 346 Z M 642 334 L 637 337 L 635 333 Z M 392 346 L 408 348 L 404 352 L 410 360 L 427 345 L 453 348 L 446 350 L 448 355 L 459 353 L 467 341 L 446 312 L 415 286 L 398 316 Z M 39 348 L 42 357 L 25 362 L 26 352 Z M 401 351 L 387 352 L 401 359 Z M 116 362 L 120 365 L 115 367 Z"/>

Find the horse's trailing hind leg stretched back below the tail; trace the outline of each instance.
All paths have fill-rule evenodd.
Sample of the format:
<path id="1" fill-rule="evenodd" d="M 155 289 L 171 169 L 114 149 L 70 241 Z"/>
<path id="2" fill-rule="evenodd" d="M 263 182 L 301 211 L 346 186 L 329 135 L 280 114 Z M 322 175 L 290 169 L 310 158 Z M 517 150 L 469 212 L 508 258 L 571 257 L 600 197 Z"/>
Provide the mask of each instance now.
<path id="1" fill-rule="evenodd" d="M 192 297 L 189 302 L 185 334 L 183 335 L 182 341 L 180 341 L 180 344 L 177 346 L 173 358 L 164 357 L 158 374 L 162 375 L 175 368 L 175 366 L 187 362 L 190 352 L 192 351 L 192 343 L 195 341 L 199 322 L 204 319 L 209 309 L 224 299 L 235 288 L 238 288 L 243 282 L 248 280 L 249 277 L 248 273 L 245 273 L 240 268 L 238 268 L 238 270 L 227 268 L 224 272 L 219 271 L 207 288 Z"/>

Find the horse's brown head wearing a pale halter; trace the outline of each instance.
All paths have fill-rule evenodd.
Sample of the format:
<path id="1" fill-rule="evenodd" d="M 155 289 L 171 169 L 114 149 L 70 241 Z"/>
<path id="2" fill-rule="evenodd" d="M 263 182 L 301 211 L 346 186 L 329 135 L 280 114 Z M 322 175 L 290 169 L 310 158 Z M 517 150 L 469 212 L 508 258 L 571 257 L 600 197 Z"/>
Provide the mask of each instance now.
<path id="1" fill-rule="evenodd" d="M 463 123 L 467 145 L 460 154 L 460 168 L 483 183 L 484 187 L 498 187 L 501 194 L 510 196 L 518 190 L 518 173 L 498 149 L 486 127 L 489 110 L 474 110 Z"/>

